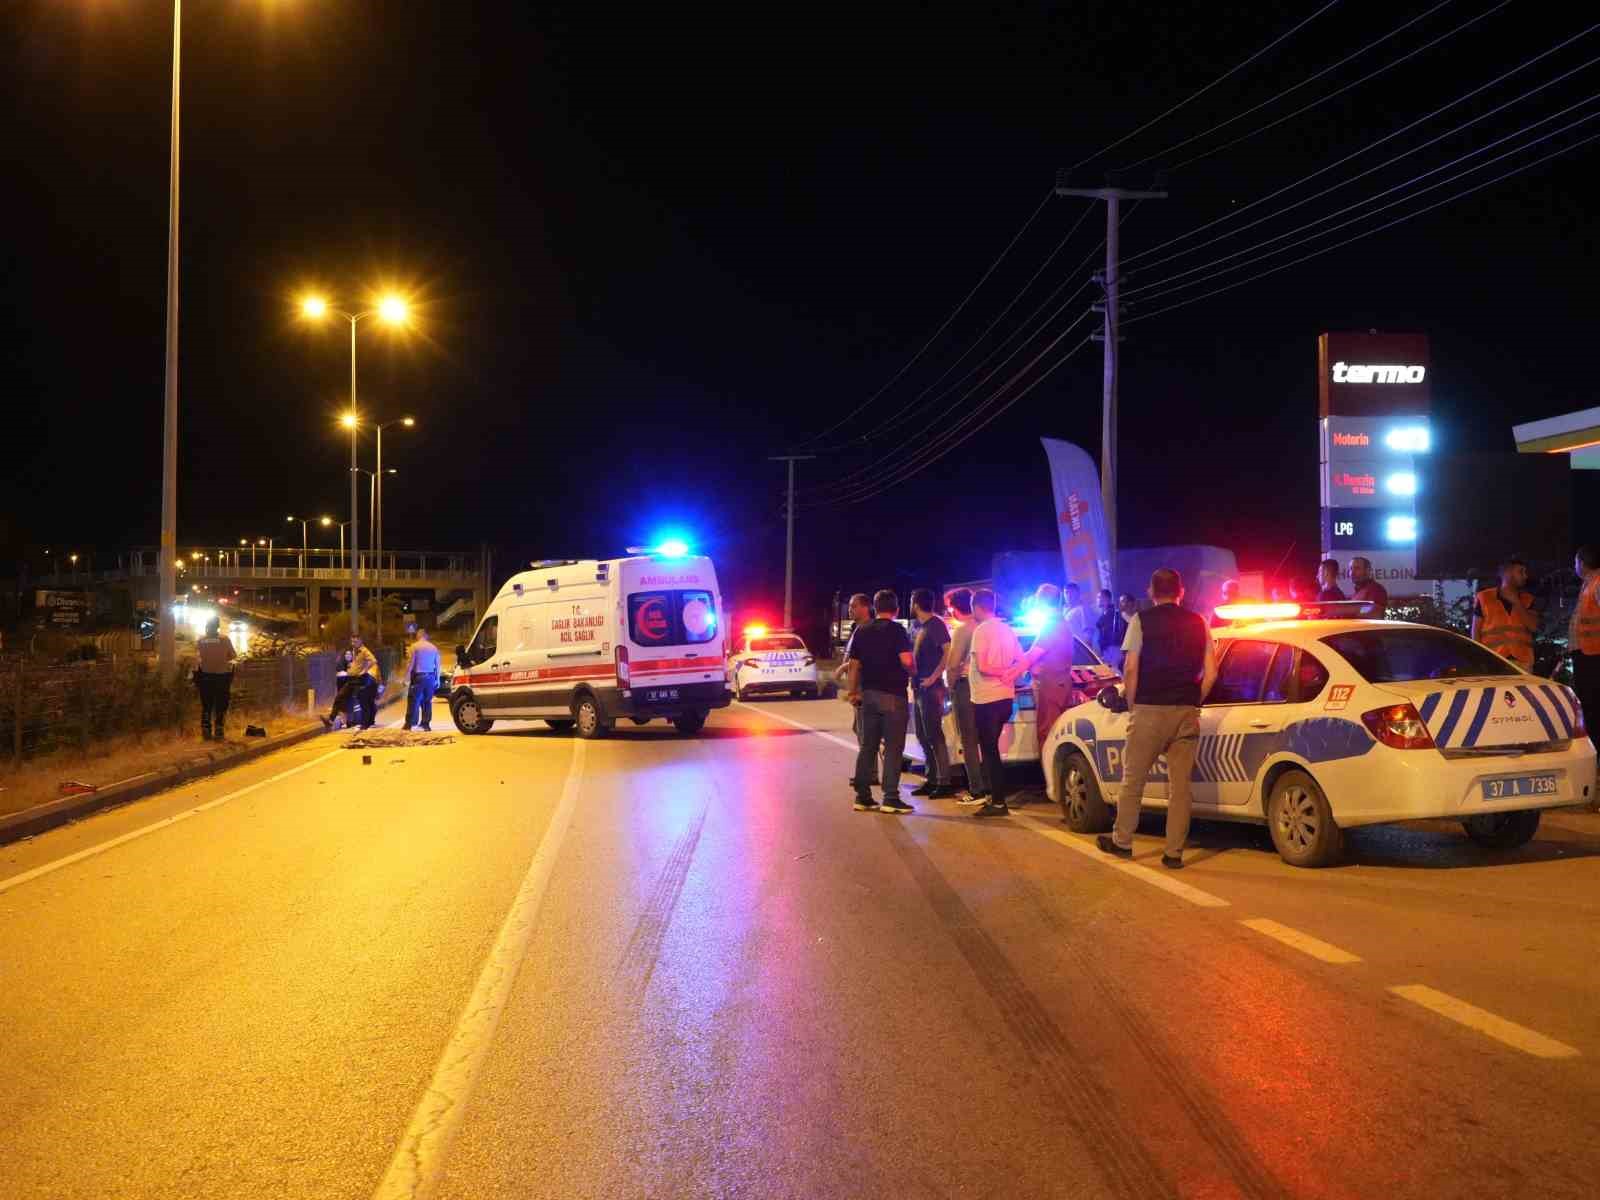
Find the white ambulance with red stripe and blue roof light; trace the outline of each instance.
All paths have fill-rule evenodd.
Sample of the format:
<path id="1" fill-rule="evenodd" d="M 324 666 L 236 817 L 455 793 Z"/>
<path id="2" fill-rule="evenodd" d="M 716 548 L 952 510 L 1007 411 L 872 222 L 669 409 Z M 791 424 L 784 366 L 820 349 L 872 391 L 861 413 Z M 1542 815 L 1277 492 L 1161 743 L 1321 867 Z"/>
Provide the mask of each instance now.
<path id="1" fill-rule="evenodd" d="M 704 555 L 533 563 L 456 646 L 450 715 L 467 734 L 542 718 L 602 738 L 658 717 L 698 733 L 731 699 L 720 611 Z"/>

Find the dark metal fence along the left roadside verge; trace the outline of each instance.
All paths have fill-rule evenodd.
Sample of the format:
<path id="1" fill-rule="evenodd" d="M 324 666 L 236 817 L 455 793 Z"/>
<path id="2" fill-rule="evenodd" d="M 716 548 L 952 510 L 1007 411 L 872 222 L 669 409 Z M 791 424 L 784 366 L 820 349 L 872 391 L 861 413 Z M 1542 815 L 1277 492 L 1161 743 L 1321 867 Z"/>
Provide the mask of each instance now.
<path id="1" fill-rule="evenodd" d="M 387 662 L 386 662 L 387 666 Z M 0 659 L 0 755 L 32 758 L 88 749 L 96 741 L 194 726 L 200 698 L 192 667 L 163 675 L 144 658 L 51 664 Z M 338 656 L 331 653 L 246 659 L 234 672 L 232 707 L 304 710 L 333 701 Z"/>

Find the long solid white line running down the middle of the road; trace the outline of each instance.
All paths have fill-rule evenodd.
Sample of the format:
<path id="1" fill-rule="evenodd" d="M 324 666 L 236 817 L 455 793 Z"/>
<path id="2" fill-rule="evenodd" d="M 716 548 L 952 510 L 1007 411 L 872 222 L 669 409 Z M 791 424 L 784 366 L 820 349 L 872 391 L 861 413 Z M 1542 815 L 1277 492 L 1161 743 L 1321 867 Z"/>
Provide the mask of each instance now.
<path id="1" fill-rule="evenodd" d="M 445 1053 L 434 1067 L 434 1078 L 429 1080 L 427 1091 L 416 1106 L 411 1125 L 406 1126 L 400 1146 L 395 1147 L 389 1170 L 373 1192 L 374 1200 L 419 1200 L 432 1195 L 443 1176 L 445 1157 L 450 1144 L 461 1128 L 461 1117 L 467 1107 L 472 1088 L 483 1074 L 483 1062 L 488 1058 L 494 1030 L 499 1027 L 510 998 L 512 984 L 522 970 L 522 960 L 528 954 L 533 939 L 533 928 L 539 918 L 539 906 L 544 891 L 550 883 L 550 872 L 555 870 L 555 856 L 562 851 L 562 840 L 573 822 L 573 810 L 578 806 L 578 792 L 584 778 L 584 746 L 579 738 L 573 739 L 573 763 L 566 771 L 566 786 L 562 787 L 560 803 L 555 816 L 550 818 L 539 848 L 533 853 L 528 874 L 517 888 L 517 896 L 510 902 L 506 920 L 501 923 L 494 946 L 483 960 L 478 982 L 472 989 L 472 997 L 456 1022 Z"/>

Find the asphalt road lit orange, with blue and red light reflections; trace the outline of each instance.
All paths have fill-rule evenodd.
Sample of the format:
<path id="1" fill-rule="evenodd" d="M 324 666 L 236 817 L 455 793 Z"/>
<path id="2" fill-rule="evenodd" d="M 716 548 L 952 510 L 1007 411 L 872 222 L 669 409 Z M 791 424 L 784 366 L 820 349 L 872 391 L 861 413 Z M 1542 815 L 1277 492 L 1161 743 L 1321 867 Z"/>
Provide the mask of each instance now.
<path id="1" fill-rule="evenodd" d="M 0 848 L 0 1192 L 1595 1194 L 1597 818 L 1174 875 L 854 813 L 846 722 L 330 736 Z"/>

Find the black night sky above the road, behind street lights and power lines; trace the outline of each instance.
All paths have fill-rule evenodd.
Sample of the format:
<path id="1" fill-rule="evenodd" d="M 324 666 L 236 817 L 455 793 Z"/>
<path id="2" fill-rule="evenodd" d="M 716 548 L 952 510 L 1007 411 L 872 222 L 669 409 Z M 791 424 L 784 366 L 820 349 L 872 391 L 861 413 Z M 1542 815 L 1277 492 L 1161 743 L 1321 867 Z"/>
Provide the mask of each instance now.
<path id="1" fill-rule="evenodd" d="M 1600 90 L 1600 69 L 1581 69 L 1429 150 L 1141 275 L 1138 251 L 1362 152 L 1586 24 L 1525 0 L 1446 2 L 1315 83 L 1166 152 L 1435 3 L 1336 3 L 1088 163 L 1083 178 L 1099 182 L 1104 170 L 1150 158 L 1123 178 L 1144 184 L 1486 13 L 1344 96 L 1174 170 L 1171 198 L 1141 205 L 1123 226 L 1125 285 L 1248 248 L 1563 107 L 1581 104 L 1526 136 L 1597 109 L 1586 98 Z M 1056 168 L 1211 83 L 1315 6 L 190 0 L 181 544 L 282 536 L 290 512 L 346 515 L 349 443 L 333 421 L 347 390 L 347 334 L 304 326 L 294 298 L 315 283 L 360 302 L 392 285 L 418 301 L 419 328 L 366 328 L 360 346 L 363 410 L 421 422 L 384 443 L 403 472 L 386 499 L 392 546 L 490 542 L 509 566 L 619 554 L 670 525 L 718 557 L 746 611 L 776 603 L 782 467 L 766 456 L 805 443 L 894 376 L 1046 197 Z M 8 0 L 0 24 L 11 467 L 0 541 L 13 560 L 45 546 L 152 546 L 170 5 Z M 1597 53 L 1600 35 L 1579 38 L 1251 216 Z M 1597 131 L 1600 122 L 1579 126 L 1293 253 Z M 1291 563 L 1309 571 L 1315 334 L 1325 328 L 1432 336 L 1445 450 L 1510 450 L 1512 422 L 1594 405 L 1597 251 L 1581 189 L 1594 166 L 1587 146 L 1333 254 L 1131 320 L 1125 544 L 1216 542 L 1246 568 L 1270 568 L 1293 544 Z M 926 355 L 814 443 L 829 453 L 802 464 L 806 605 L 886 578 L 970 578 L 995 550 L 1054 546 L 1038 437 L 1098 451 L 1094 342 L 955 453 L 869 502 L 829 506 L 842 494 L 829 480 L 862 467 L 854 478 L 888 478 L 1083 312 L 1088 293 L 966 408 L 949 408 L 962 392 L 938 398 L 1053 288 L 1069 280 L 1064 298 L 1083 282 L 1091 267 L 1080 264 L 1104 234 L 1099 211 L 990 339 L 922 395 L 1085 203 L 1050 200 Z M 850 445 L 893 418 L 906 419 Z M 366 466 L 370 456 L 363 448 Z"/>

